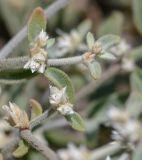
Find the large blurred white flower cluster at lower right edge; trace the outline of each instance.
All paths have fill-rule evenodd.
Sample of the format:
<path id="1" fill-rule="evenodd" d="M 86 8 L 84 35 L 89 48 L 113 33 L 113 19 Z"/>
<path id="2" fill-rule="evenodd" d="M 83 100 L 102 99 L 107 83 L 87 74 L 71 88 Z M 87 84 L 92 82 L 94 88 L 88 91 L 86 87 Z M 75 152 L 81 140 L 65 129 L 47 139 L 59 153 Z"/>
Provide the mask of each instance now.
<path id="1" fill-rule="evenodd" d="M 111 108 L 108 112 L 108 118 L 110 125 L 114 129 L 112 132 L 114 140 L 128 142 L 131 145 L 140 140 L 142 127 L 127 111 Z"/>

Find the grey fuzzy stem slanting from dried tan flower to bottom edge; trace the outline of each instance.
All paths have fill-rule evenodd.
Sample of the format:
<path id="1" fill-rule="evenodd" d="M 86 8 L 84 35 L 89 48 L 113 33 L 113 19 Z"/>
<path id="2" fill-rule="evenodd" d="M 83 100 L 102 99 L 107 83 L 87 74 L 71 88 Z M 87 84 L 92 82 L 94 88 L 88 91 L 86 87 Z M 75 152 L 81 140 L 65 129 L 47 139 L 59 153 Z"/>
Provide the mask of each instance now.
<path id="1" fill-rule="evenodd" d="M 21 137 L 27 141 L 33 148 L 38 150 L 43 156 L 49 160 L 58 160 L 56 153 L 49 147 L 40 142 L 36 137 L 34 137 L 30 130 L 22 130 Z"/>

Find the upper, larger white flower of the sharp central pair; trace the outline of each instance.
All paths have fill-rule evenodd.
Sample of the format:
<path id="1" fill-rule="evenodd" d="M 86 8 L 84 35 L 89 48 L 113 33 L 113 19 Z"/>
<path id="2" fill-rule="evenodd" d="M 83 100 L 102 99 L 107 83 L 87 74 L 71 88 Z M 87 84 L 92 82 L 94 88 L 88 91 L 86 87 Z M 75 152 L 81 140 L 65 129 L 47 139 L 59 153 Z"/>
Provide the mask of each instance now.
<path id="1" fill-rule="evenodd" d="M 58 106 L 61 103 L 65 103 L 67 101 L 66 95 L 66 87 L 62 89 L 58 89 L 57 87 L 49 86 L 50 88 L 50 97 L 49 102 L 53 106 Z"/>

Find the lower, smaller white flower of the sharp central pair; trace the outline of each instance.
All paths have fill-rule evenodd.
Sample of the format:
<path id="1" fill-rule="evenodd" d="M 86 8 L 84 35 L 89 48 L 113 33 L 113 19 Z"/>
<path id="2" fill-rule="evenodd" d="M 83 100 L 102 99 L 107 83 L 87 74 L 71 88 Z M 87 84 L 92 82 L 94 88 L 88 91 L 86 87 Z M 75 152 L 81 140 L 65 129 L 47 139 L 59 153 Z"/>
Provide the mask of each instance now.
<path id="1" fill-rule="evenodd" d="M 60 105 L 57 110 L 62 114 L 62 115 L 70 115 L 74 113 L 73 110 L 73 105 L 71 103 L 66 103 L 63 105 Z"/>

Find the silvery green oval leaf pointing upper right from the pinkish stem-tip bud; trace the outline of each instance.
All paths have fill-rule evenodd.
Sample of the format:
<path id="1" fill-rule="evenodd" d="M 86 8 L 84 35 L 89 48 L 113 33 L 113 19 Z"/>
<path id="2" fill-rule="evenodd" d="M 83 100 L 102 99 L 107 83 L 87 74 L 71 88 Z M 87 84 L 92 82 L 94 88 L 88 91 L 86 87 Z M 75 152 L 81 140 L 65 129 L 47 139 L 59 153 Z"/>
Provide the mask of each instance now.
<path id="1" fill-rule="evenodd" d="M 112 46 L 119 44 L 120 37 L 117 35 L 108 34 L 108 35 L 105 35 L 105 36 L 102 36 L 101 38 L 99 38 L 97 42 L 102 44 L 102 48 L 104 50 L 107 50 L 107 49 L 111 48 Z"/>

